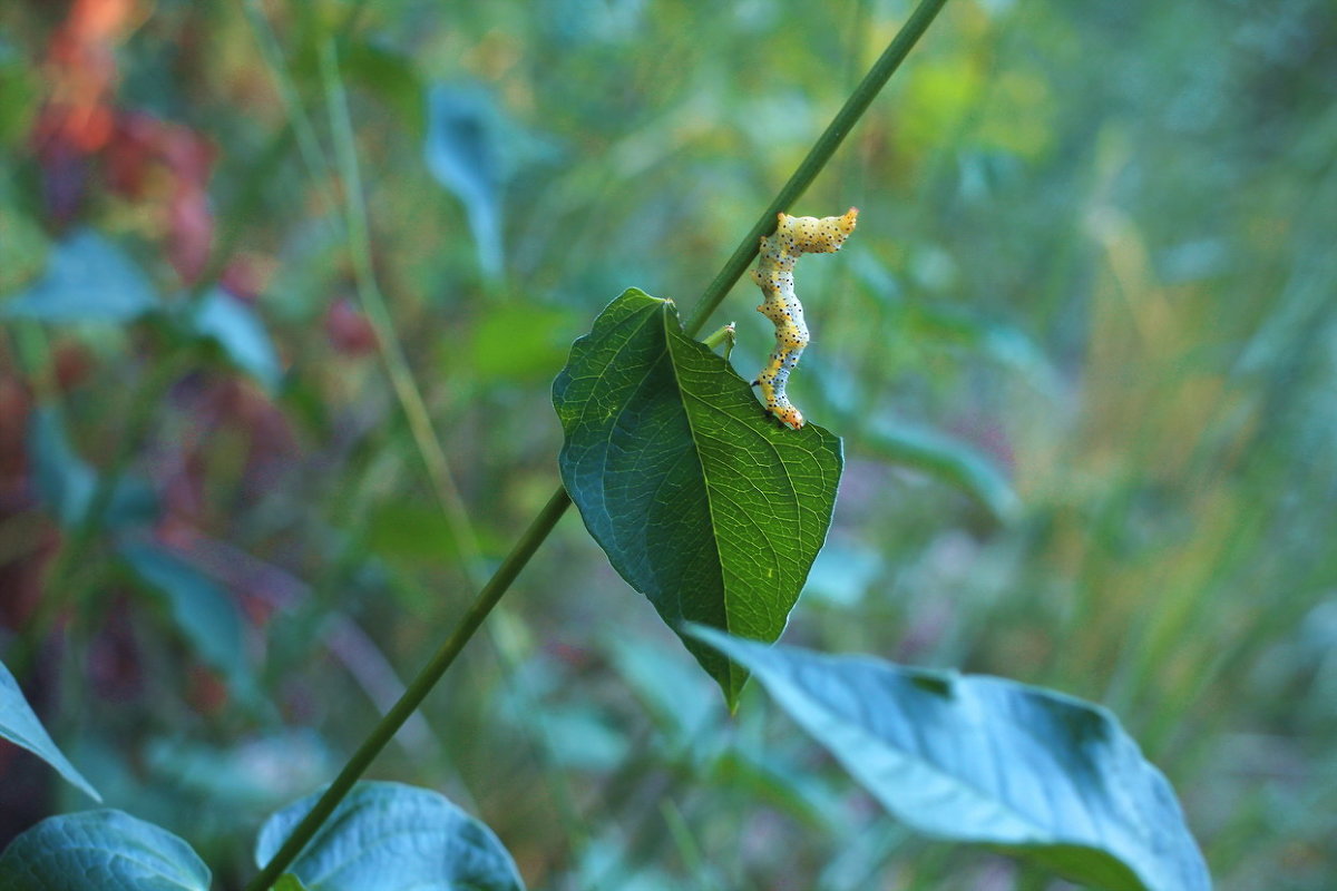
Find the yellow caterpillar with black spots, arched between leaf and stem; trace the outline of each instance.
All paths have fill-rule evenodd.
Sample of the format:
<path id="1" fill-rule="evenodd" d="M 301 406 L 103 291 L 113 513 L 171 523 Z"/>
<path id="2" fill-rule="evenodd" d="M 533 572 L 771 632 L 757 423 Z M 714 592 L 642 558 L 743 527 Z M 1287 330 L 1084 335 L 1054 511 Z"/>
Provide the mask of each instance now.
<path id="1" fill-rule="evenodd" d="M 781 214 L 775 234 L 761 239 L 761 256 L 751 277 L 762 293 L 762 303 L 757 311 L 775 325 L 775 350 L 766 367 L 757 374 L 753 386 L 761 387 L 766 410 L 794 430 L 804 426 L 804 413 L 789 401 L 785 385 L 808 346 L 804 305 L 794 295 L 794 262 L 804 254 L 838 251 L 854 231 L 857 216 L 857 207 L 850 207 L 844 216 L 821 219 Z"/>

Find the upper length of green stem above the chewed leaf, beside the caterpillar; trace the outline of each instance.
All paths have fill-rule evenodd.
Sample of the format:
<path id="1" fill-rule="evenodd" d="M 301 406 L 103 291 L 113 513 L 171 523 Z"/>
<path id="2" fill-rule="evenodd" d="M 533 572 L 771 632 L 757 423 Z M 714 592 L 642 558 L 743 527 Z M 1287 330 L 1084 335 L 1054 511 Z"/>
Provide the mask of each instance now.
<path id="1" fill-rule="evenodd" d="M 868 73 L 864 75 L 864 80 L 860 81 L 854 92 L 845 100 L 845 106 L 836 112 L 832 123 L 826 126 L 825 132 L 818 136 L 808 152 L 808 158 L 798 166 L 794 175 L 789 178 L 789 182 L 775 195 L 775 200 L 770 203 L 766 212 L 761 215 L 761 219 L 757 220 L 751 231 L 747 232 L 742 243 L 725 262 L 725 267 L 719 270 L 715 279 L 706 287 L 701 302 L 697 305 L 697 310 L 687 319 L 687 323 L 683 325 L 687 337 L 695 337 L 706 326 L 710 314 L 723 302 L 729 289 L 734 286 L 743 274 L 743 270 L 751 266 L 753 258 L 757 256 L 757 244 L 761 242 L 762 235 L 770 235 L 775 231 L 775 214 L 789 210 L 798 200 L 798 196 L 808 191 L 808 187 L 817 179 L 817 174 L 822 171 L 830 156 L 845 142 L 845 136 L 849 135 L 854 123 L 868 111 L 868 106 L 882 87 L 886 85 L 888 79 L 905 61 L 905 56 L 909 55 L 909 51 L 924 35 L 924 31 L 928 29 L 945 3 L 947 0 L 921 0 L 919 7 L 915 8 L 915 12 L 910 13 L 910 17 L 901 27 L 900 32 L 892 39 L 892 43 L 882 51 L 882 55 L 873 63 Z"/>

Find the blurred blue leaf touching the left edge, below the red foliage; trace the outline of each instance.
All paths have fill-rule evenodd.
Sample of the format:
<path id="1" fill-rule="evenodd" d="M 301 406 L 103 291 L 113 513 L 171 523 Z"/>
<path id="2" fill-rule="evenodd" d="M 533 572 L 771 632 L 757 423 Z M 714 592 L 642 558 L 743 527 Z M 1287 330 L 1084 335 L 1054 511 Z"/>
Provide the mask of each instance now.
<path id="1" fill-rule="evenodd" d="M 0 319 L 130 322 L 158 303 L 134 260 L 102 235 L 80 230 L 52 247 L 37 281 L 0 299 Z"/>

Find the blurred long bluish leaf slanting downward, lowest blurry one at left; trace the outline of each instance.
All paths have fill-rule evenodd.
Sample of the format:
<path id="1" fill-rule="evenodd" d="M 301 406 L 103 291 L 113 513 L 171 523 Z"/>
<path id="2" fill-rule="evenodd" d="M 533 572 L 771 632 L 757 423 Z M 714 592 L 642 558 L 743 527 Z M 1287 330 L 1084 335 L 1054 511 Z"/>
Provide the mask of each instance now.
<path id="1" fill-rule="evenodd" d="M 167 598 L 172 620 L 199 657 L 242 693 L 250 673 L 242 644 L 242 617 L 231 596 L 182 557 L 151 542 L 126 542 L 120 556 Z"/>

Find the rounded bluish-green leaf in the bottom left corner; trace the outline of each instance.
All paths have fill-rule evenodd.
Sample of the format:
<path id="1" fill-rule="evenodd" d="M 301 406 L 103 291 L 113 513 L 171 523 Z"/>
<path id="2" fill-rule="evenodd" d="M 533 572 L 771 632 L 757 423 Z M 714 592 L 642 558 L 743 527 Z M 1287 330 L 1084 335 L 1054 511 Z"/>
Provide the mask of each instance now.
<path id="1" fill-rule="evenodd" d="M 189 844 L 123 811 L 43 820 L 0 855 L 0 891 L 209 891 Z"/>

